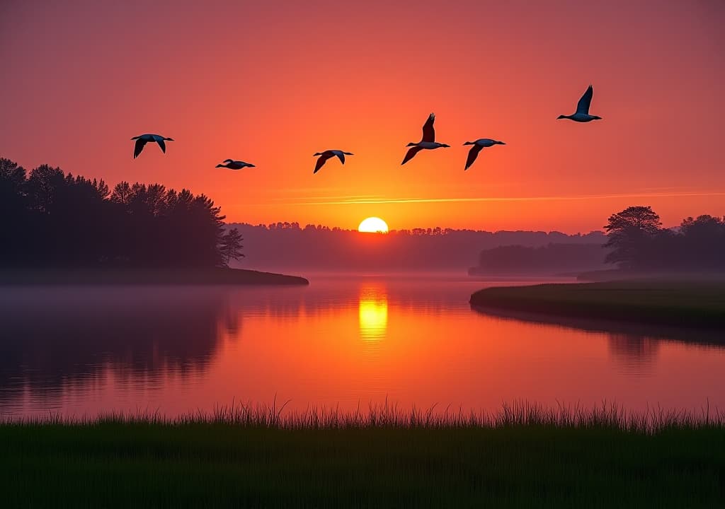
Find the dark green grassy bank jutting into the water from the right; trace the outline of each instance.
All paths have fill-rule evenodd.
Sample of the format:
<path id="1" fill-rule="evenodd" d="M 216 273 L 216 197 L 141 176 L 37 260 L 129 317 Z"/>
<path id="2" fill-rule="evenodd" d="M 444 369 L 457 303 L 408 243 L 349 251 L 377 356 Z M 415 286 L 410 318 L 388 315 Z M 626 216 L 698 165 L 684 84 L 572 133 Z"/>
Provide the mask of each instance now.
<path id="1" fill-rule="evenodd" d="M 610 281 L 492 287 L 471 306 L 517 313 L 632 321 L 672 327 L 725 328 L 725 282 Z"/>

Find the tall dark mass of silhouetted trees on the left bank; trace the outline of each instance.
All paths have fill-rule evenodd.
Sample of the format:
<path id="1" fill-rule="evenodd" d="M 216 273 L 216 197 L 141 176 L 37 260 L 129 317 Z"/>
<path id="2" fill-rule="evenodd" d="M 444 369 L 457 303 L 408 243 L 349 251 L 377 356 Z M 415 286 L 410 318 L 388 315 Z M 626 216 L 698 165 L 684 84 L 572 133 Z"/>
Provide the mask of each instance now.
<path id="1" fill-rule="evenodd" d="M 0 158 L 4 266 L 228 266 L 244 256 L 205 195 L 164 185 L 87 179 Z"/>

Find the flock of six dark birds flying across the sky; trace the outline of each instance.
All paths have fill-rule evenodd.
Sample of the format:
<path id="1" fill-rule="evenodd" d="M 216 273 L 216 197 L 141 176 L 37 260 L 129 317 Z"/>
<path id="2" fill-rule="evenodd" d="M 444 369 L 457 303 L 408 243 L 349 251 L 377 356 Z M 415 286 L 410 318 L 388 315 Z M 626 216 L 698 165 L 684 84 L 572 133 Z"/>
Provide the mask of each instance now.
<path id="1" fill-rule="evenodd" d="M 584 92 L 584 95 L 581 96 L 581 98 L 579 99 L 579 103 L 576 104 L 576 112 L 571 115 L 559 115 L 557 119 L 570 119 L 574 122 L 591 122 L 592 120 L 601 120 L 602 117 L 597 117 L 597 115 L 589 114 L 589 106 L 592 104 L 593 94 L 594 90 L 592 89 L 592 85 L 589 85 L 587 91 Z M 418 143 L 411 142 L 407 144 L 410 149 L 405 154 L 405 158 L 403 158 L 401 164 L 407 163 L 407 161 L 410 161 L 410 159 L 413 159 L 413 157 L 415 157 L 415 154 L 422 150 L 434 150 L 436 148 L 450 147 L 450 145 L 446 145 L 445 143 L 439 143 L 436 141 L 436 131 L 433 128 L 433 123 L 435 122 L 435 120 L 436 116 L 431 113 L 428 116 L 426 123 L 423 124 L 423 137 Z M 149 142 L 158 143 L 159 147 L 161 147 L 161 151 L 163 153 L 166 153 L 165 142 L 173 141 L 173 138 L 165 138 L 162 135 L 144 134 L 140 136 L 134 136 L 133 138 L 131 138 L 131 140 L 136 140 L 136 146 L 133 148 L 133 159 L 136 159 L 136 157 L 138 157 L 138 154 L 140 154 L 141 151 L 144 150 L 144 146 L 146 146 L 146 143 Z M 471 167 L 471 164 L 476 161 L 476 157 L 479 156 L 479 152 L 481 152 L 482 149 L 492 147 L 494 145 L 505 144 L 506 143 L 502 141 L 492 140 L 491 138 L 479 138 L 476 141 L 467 141 L 463 143 L 464 146 L 472 145 L 471 150 L 468 151 L 468 158 L 465 161 L 465 169 Z M 345 164 L 345 156 L 352 155 L 355 154 L 353 154 L 352 152 L 345 152 L 341 150 L 326 150 L 323 152 L 315 152 L 313 154 L 313 157 L 317 157 L 318 160 L 317 163 L 315 163 L 315 171 L 312 173 L 319 172 L 320 168 L 323 167 L 328 159 L 337 157 L 338 159 L 340 159 L 341 164 Z M 254 168 L 254 164 L 244 161 L 235 161 L 234 159 L 225 159 L 222 164 L 217 164 L 216 167 L 228 169 L 242 169 L 246 167 Z"/>

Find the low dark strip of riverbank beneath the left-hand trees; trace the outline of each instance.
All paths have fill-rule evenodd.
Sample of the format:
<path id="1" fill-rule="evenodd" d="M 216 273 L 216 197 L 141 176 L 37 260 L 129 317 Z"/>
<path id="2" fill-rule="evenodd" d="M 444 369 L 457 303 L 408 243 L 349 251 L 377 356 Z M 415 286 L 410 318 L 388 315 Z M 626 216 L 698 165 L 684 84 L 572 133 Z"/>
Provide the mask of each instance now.
<path id="1" fill-rule="evenodd" d="M 304 277 L 247 269 L 22 269 L 0 272 L 0 286 L 309 285 Z"/>

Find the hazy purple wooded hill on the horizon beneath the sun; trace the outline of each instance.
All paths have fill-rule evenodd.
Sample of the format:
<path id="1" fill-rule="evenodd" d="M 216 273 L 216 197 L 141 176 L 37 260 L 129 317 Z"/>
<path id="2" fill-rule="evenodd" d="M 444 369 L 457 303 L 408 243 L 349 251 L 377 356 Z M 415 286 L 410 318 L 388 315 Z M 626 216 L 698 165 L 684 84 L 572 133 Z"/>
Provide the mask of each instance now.
<path id="1" fill-rule="evenodd" d="M 606 240 L 602 232 L 566 235 L 561 232 L 415 228 L 380 235 L 313 224 L 300 227 L 297 223 L 234 223 L 226 227 L 236 227 L 244 237 L 245 258 L 232 266 L 265 270 L 464 272 L 478 263 L 481 250 L 502 245 L 602 245 Z M 594 268 L 598 266 L 588 267 Z"/>

